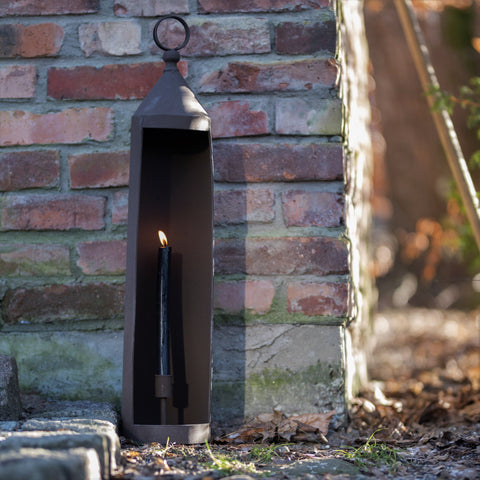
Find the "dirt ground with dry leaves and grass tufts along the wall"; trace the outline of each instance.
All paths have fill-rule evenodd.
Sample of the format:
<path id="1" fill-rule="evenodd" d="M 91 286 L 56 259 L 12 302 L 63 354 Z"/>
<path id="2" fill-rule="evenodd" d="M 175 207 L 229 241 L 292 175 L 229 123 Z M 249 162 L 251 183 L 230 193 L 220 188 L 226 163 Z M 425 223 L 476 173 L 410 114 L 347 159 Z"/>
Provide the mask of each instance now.
<path id="1" fill-rule="evenodd" d="M 448 310 L 377 314 L 372 382 L 354 399 L 347 428 L 328 428 L 327 413 L 288 433 L 281 425 L 291 419 L 270 412 L 257 419 L 257 435 L 252 425 L 236 435 L 218 430 L 208 446 L 122 439 L 114 478 L 480 479 L 479 319 Z"/>

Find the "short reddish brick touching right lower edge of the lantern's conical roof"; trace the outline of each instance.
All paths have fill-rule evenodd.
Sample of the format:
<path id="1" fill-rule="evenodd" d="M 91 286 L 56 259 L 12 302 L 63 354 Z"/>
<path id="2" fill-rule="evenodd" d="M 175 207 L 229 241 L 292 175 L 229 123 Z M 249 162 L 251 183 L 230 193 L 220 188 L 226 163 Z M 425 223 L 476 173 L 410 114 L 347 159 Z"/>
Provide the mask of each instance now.
<path id="1" fill-rule="evenodd" d="M 269 133 L 267 114 L 250 110 L 247 101 L 225 101 L 208 109 L 212 119 L 212 137 L 243 137 Z"/>

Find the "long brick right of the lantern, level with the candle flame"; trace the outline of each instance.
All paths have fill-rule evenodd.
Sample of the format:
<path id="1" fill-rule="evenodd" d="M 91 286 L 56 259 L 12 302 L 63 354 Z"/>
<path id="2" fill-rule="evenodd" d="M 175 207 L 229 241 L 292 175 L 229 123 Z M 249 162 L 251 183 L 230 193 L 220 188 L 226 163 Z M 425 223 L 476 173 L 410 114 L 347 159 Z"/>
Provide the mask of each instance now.
<path id="1" fill-rule="evenodd" d="M 336 238 L 221 239 L 215 246 L 215 273 L 219 274 L 332 275 L 347 271 L 347 247 Z"/>

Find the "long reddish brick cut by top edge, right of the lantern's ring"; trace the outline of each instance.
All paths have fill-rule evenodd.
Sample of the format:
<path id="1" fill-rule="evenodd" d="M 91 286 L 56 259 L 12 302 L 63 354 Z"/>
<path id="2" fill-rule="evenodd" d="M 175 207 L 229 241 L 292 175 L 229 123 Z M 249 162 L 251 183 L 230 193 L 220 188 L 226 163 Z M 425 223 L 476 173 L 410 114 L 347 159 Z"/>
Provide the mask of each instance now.
<path id="1" fill-rule="evenodd" d="M 200 13 L 285 12 L 328 7 L 332 0 L 198 0 Z"/>

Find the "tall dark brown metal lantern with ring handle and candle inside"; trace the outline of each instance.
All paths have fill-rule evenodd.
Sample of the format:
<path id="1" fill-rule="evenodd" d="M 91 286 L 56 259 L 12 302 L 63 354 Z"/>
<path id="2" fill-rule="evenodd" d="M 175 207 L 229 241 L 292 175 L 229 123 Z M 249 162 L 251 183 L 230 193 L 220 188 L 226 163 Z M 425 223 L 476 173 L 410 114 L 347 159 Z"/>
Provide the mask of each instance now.
<path id="1" fill-rule="evenodd" d="M 166 19 L 185 41 L 158 39 Z M 153 37 L 164 73 L 132 117 L 122 420 L 140 441 L 210 434 L 213 180 L 210 118 L 177 68 L 183 19 Z"/>

